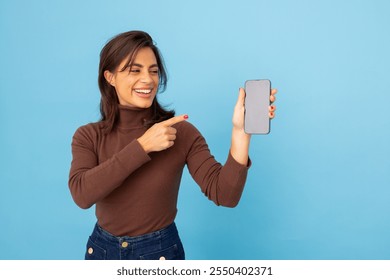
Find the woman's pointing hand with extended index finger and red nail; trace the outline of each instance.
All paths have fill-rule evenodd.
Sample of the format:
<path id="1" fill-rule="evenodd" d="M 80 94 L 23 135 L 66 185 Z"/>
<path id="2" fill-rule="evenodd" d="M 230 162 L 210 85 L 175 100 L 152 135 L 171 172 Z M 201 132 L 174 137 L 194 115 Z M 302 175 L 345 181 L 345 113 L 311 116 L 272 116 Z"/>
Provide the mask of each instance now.
<path id="1" fill-rule="evenodd" d="M 172 125 L 187 119 L 188 115 L 180 115 L 156 123 L 137 140 L 146 153 L 166 150 L 173 146 L 176 139 L 176 129 Z"/>

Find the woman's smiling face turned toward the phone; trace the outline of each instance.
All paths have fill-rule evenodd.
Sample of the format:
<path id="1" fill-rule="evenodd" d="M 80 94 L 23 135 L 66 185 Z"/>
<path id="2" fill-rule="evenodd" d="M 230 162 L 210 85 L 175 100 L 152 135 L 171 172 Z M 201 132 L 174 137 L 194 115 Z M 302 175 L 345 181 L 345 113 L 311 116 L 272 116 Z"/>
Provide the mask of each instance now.
<path id="1" fill-rule="evenodd" d="M 123 71 L 124 59 L 115 73 L 104 72 L 106 80 L 115 87 L 119 103 L 130 107 L 149 108 L 156 96 L 159 75 L 156 56 L 151 48 L 138 51 L 133 63 Z"/>

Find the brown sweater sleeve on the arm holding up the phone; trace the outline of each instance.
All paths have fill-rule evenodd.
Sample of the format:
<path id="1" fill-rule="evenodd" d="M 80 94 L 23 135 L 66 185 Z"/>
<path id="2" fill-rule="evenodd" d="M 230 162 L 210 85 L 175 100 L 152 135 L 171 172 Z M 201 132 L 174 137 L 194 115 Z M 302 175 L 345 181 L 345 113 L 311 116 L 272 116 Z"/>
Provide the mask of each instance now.
<path id="1" fill-rule="evenodd" d="M 211 155 L 203 136 L 192 127 L 195 134 L 187 155 L 188 170 L 202 192 L 217 205 L 235 207 L 244 189 L 248 166 L 243 166 L 228 154 L 224 165 Z"/>

